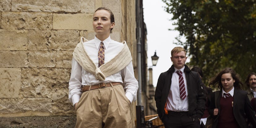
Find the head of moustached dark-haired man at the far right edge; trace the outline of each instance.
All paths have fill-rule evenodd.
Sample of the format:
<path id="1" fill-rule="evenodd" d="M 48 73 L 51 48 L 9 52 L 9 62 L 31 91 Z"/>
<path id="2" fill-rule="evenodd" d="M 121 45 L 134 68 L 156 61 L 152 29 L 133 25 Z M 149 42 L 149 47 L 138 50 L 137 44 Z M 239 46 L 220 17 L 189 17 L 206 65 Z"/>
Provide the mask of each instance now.
<path id="1" fill-rule="evenodd" d="M 245 79 L 245 84 L 247 85 L 247 96 L 249 100 L 256 97 L 256 73 L 251 72 Z"/>

